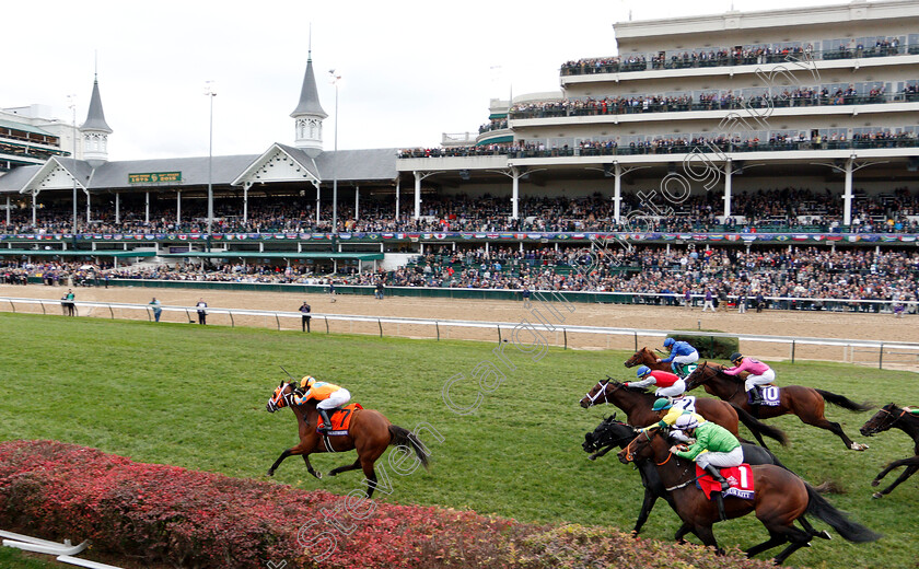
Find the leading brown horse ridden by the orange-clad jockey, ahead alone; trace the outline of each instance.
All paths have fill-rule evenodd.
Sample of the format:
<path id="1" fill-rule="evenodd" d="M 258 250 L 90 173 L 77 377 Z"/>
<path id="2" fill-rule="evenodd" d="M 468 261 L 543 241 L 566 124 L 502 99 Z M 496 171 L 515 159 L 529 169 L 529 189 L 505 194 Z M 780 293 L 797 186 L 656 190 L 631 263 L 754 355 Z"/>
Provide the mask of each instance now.
<path id="1" fill-rule="evenodd" d="M 293 393 L 294 388 L 296 388 L 294 382 L 281 382 L 268 399 L 268 405 L 266 405 L 268 413 L 275 413 L 288 406 L 286 395 Z M 403 446 L 408 450 L 414 450 L 421 465 L 428 468 L 427 449 L 415 434 L 408 429 L 391 423 L 382 413 L 374 409 L 356 409 L 351 416 L 351 426 L 348 434 L 321 436 L 316 431 L 316 423 L 319 417 L 316 403 L 315 399 L 311 399 L 303 405 L 291 406 L 296 417 L 300 443 L 281 453 L 278 460 L 275 461 L 275 464 L 268 468 L 268 476 L 274 476 L 275 471 L 278 469 L 278 466 L 288 456 L 300 455 L 303 456 L 303 462 L 306 463 L 306 469 L 310 474 L 316 478 L 322 478 L 322 473 L 313 469 L 313 465 L 310 464 L 311 454 L 357 450 L 357 461 L 352 464 L 334 468 L 328 475 L 336 476 L 344 472 L 361 468 L 368 480 L 367 497 L 371 498 L 373 490 L 376 489 L 376 473 L 373 469 L 373 465 L 383 452 L 386 451 L 386 448 Z M 328 442 L 328 446 L 326 446 L 326 441 Z"/>

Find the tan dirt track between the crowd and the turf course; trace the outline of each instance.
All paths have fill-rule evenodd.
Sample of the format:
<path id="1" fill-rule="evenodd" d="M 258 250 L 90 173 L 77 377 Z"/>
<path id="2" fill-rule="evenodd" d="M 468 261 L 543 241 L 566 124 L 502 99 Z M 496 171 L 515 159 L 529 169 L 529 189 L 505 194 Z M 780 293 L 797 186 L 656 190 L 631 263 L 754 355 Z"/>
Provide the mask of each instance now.
<path id="1" fill-rule="evenodd" d="M 63 287 L 46 287 L 30 284 L 27 287 L 0 286 L 0 295 L 14 298 L 35 298 L 58 300 L 66 292 Z M 535 322 L 536 318 L 524 309 L 522 302 L 515 301 L 486 301 L 486 300 L 451 300 L 451 299 L 424 299 L 388 297 L 385 300 L 375 300 L 373 297 L 337 295 L 336 302 L 327 294 L 303 294 L 289 292 L 251 292 L 251 291 L 201 291 L 191 289 L 146 289 L 146 288 L 74 288 L 77 302 L 121 302 L 146 304 L 155 295 L 166 306 L 194 306 L 198 299 L 203 298 L 210 307 L 225 309 L 249 309 L 267 311 L 296 312 L 300 304 L 306 300 L 313 309 L 313 332 L 325 332 L 326 324 L 323 314 L 354 314 L 370 316 L 398 316 L 416 318 L 439 318 L 439 320 L 465 320 L 486 322 L 507 322 L 511 325 L 520 323 L 523 318 Z M 583 326 L 605 326 L 623 328 L 652 328 L 652 329 L 717 329 L 728 333 L 755 334 L 770 336 L 798 336 L 798 337 L 823 337 L 823 338 L 851 338 L 872 339 L 884 341 L 914 341 L 919 342 L 919 327 L 915 326 L 916 316 L 894 318 L 889 314 L 854 314 L 854 313 L 827 313 L 827 312 L 799 312 L 799 311 L 766 311 L 755 313 L 748 311 L 746 314 L 737 314 L 736 311 L 702 313 L 700 309 L 687 311 L 684 307 L 670 306 L 641 306 L 641 305 L 614 305 L 614 304 L 572 304 L 573 312 L 561 310 L 565 316 L 565 324 Z M 0 310 L 9 311 L 9 303 L 0 303 Z M 19 312 L 40 312 L 34 306 L 28 310 L 18 305 Z M 48 311 L 57 311 L 56 304 L 48 306 Z M 543 311 L 549 316 L 549 311 Z M 86 313 L 81 309 L 81 315 L 110 317 L 112 314 L 104 309 L 94 309 Z M 141 311 L 115 311 L 115 317 L 144 318 L 147 314 Z M 195 313 L 190 311 L 194 318 Z M 188 322 L 184 312 L 165 311 L 164 322 Z M 208 318 L 209 324 L 230 325 L 230 318 L 225 315 L 212 314 Z M 274 317 L 265 316 L 235 316 L 234 325 L 277 327 Z M 554 321 L 552 324 L 558 324 Z M 299 329 L 298 318 L 281 320 L 283 329 Z M 379 334 L 376 323 L 345 323 L 329 322 L 331 332 L 354 332 L 363 334 Z M 510 330 L 503 330 L 508 334 Z M 441 338 L 463 339 L 486 339 L 497 340 L 497 329 L 481 328 L 456 328 L 441 324 Z M 384 335 L 412 336 L 412 337 L 435 337 L 437 330 L 433 326 L 412 325 L 384 325 Z M 561 332 L 549 338 L 552 344 L 562 345 L 565 337 Z M 532 340 L 526 340 L 532 341 Z M 568 334 L 568 346 L 580 348 L 621 348 L 635 347 L 633 336 L 606 336 Z M 660 338 L 638 338 L 640 346 L 659 346 Z M 790 348 L 787 345 L 766 342 L 745 342 L 742 350 L 764 358 L 788 358 Z M 840 361 L 844 359 L 852 361 L 877 361 L 877 351 L 871 352 L 865 349 L 851 348 L 844 350 L 840 347 L 805 347 L 798 346 L 798 358 L 827 359 Z M 900 361 L 903 363 L 915 363 L 915 356 L 887 355 L 884 360 L 891 363 Z"/>

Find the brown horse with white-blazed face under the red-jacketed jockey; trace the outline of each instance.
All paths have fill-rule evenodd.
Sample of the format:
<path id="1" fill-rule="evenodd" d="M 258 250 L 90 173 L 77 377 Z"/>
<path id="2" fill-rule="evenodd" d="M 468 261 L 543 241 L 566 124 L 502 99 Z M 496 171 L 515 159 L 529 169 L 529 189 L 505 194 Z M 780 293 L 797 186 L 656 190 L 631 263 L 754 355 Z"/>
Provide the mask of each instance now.
<path id="1" fill-rule="evenodd" d="M 641 387 L 627 387 L 625 383 L 619 383 L 615 380 L 601 380 L 581 399 L 580 404 L 581 407 L 586 409 L 600 403 L 612 403 L 626 413 L 626 421 L 629 425 L 648 427 L 661 420 L 658 411 L 651 408 L 656 398 L 654 394 L 645 392 Z M 736 405 L 720 399 L 696 397 L 696 411 L 706 419 L 724 427 L 731 431 L 731 434 L 738 439 L 737 420 L 740 418 L 760 445 L 766 446 L 763 440 L 764 434 L 779 441 L 781 444 L 788 442 L 781 429 L 770 427 L 757 420 L 753 415 L 738 408 Z M 747 441 L 741 439 L 741 442 Z"/>

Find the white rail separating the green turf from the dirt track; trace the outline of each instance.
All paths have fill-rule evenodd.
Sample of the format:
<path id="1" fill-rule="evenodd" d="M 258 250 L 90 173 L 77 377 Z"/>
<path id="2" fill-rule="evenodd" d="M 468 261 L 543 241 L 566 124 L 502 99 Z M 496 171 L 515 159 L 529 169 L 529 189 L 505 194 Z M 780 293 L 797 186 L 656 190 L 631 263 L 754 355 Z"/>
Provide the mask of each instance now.
<path id="1" fill-rule="evenodd" d="M 914 303 L 915 304 L 915 303 Z M 555 303 L 558 306 L 558 303 Z M 74 302 L 78 316 L 148 320 L 153 321 L 153 307 L 149 304 L 116 302 Z M 0 297 L 0 311 L 32 314 L 58 314 L 60 301 L 46 299 L 25 299 Z M 195 306 L 161 306 L 161 322 L 196 322 Z M 577 309 L 575 309 L 577 310 Z M 560 313 L 561 314 L 561 313 Z M 521 310 L 522 318 L 530 312 Z M 207 317 L 213 325 L 271 327 L 277 330 L 300 329 L 302 314 L 299 312 L 263 311 L 228 307 L 208 307 Z M 731 334 L 710 332 L 687 332 L 652 328 L 618 328 L 600 326 L 579 326 L 552 324 L 533 324 L 528 320 L 513 322 L 460 321 L 437 318 L 408 318 L 391 316 L 370 316 L 354 314 L 311 313 L 311 327 L 316 333 L 363 334 L 396 337 L 423 337 L 437 340 L 472 339 L 484 341 L 522 344 L 521 334 L 525 334 L 525 346 L 535 349 L 539 346 L 568 348 L 606 348 L 638 350 L 642 346 L 659 346 L 666 336 L 682 335 L 698 338 L 696 346 L 706 347 L 706 339 L 736 338 L 744 352 L 775 359 L 821 359 L 848 361 L 853 363 L 874 363 L 883 369 L 884 363 L 919 368 L 919 344 L 908 341 L 886 341 L 858 338 L 814 338 L 794 336 L 769 336 L 756 334 Z M 347 323 L 347 329 L 344 324 Z M 836 355 L 841 349 L 841 357 Z M 786 351 L 788 350 L 788 351 Z M 870 358 L 859 355 L 869 353 Z M 802 355 L 804 356 L 802 358 Z M 905 358 L 904 358 L 905 357 Z M 892 361 L 893 360 L 893 361 Z"/>

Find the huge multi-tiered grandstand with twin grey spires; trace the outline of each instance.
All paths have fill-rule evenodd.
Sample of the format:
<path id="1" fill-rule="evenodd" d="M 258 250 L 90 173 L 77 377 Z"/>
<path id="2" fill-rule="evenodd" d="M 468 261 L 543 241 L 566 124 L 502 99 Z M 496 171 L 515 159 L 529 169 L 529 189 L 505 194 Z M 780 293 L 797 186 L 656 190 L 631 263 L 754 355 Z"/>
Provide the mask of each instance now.
<path id="1" fill-rule="evenodd" d="M 50 152 L 0 176 L 0 257 L 20 270 L 85 260 L 126 278 L 143 259 L 155 278 L 582 290 L 571 257 L 607 248 L 628 258 L 593 290 L 751 294 L 759 271 L 773 295 L 916 298 L 916 2 L 613 30 L 615 54 L 560 62 L 559 92 L 492 100 L 477 137 L 445 135 L 431 149 L 325 151 L 310 57 L 293 144 L 108 161 L 95 82 L 78 160 Z M 751 255 L 812 274 L 751 270 Z M 868 272 L 842 275 L 851 259 Z M 895 287 L 881 282 L 889 275 Z"/>

